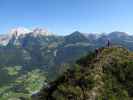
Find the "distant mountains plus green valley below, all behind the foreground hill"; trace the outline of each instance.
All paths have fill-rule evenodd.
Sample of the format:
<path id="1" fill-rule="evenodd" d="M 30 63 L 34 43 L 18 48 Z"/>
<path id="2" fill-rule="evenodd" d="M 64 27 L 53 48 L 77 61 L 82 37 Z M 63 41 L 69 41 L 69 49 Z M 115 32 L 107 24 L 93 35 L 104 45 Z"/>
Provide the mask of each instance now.
<path id="1" fill-rule="evenodd" d="M 113 46 L 133 50 L 133 36 L 118 31 L 108 34 L 75 31 L 59 36 L 43 28 L 15 28 L 0 35 L 0 99 L 30 98 L 68 69 L 75 68 L 72 65 L 77 59 L 106 47 L 108 40 Z"/>

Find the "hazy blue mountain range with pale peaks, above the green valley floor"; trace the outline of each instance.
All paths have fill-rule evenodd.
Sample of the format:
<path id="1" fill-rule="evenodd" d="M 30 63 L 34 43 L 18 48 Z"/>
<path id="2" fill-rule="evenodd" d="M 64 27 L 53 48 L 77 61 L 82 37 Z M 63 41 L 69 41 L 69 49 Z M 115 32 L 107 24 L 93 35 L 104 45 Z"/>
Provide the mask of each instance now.
<path id="1" fill-rule="evenodd" d="M 0 36 L 0 65 L 19 65 L 26 70 L 37 67 L 52 74 L 58 73 L 59 69 L 64 68 L 61 66 L 73 63 L 95 48 L 105 46 L 107 40 L 133 50 L 133 36 L 124 32 L 98 34 L 75 31 L 67 36 L 58 36 L 41 28 L 32 31 L 12 29 Z"/>

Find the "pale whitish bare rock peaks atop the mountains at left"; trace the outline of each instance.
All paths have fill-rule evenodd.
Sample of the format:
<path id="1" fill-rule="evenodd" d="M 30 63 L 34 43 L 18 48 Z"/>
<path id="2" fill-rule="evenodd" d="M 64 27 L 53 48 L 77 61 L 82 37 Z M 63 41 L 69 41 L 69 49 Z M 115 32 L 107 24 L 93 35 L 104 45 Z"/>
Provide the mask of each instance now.
<path id="1" fill-rule="evenodd" d="M 24 27 L 13 28 L 8 32 L 8 34 L 0 36 L 0 45 L 6 46 L 7 44 L 10 44 L 10 42 L 13 41 L 14 45 L 19 45 L 21 44 L 19 43 L 21 42 L 19 40 L 22 38 L 26 38 L 29 35 L 33 38 L 37 38 L 53 36 L 54 34 L 52 32 L 48 32 L 45 28 L 35 28 L 33 30 Z"/>

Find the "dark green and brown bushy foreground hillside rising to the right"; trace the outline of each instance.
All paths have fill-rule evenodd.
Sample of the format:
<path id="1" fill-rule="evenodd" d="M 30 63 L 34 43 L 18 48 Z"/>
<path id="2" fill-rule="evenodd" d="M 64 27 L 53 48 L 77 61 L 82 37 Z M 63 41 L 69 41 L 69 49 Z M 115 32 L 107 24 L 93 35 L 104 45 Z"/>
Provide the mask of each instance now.
<path id="1" fill-rule="evenodd" d="M 33 100 L 132 100 L 133 53 L 100 48 L 49 83 Z"/>

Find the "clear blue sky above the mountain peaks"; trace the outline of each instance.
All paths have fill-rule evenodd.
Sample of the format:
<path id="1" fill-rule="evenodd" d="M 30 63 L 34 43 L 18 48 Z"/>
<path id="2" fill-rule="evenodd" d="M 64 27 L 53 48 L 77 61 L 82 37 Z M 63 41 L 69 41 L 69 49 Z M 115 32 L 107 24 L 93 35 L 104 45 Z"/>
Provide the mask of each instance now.
<path id="1" fill-rule="evenodd" d="M 133 33 L 133 0 L 0 0 L 0 34 L 16 27 Z"/>

